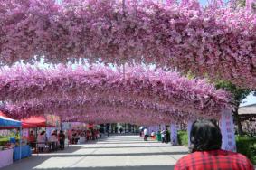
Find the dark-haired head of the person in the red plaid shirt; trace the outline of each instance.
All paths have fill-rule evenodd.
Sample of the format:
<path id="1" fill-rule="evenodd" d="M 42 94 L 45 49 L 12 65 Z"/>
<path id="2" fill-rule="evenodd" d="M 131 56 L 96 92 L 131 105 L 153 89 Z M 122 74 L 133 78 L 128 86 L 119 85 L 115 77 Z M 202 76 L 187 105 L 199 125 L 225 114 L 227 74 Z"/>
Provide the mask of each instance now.
<path id="1" fill-rule="evenodd" d="M 191 128 L 190 141 L 192 152 L 220 149 L 222 134 L 214 120 L 196 120 Z"/>

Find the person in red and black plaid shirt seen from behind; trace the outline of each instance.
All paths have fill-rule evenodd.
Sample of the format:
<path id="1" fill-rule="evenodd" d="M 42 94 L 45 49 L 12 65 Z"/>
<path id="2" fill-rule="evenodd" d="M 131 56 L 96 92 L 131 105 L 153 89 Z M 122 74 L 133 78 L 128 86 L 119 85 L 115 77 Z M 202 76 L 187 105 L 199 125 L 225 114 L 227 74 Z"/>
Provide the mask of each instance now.
<path id="1" fill-rule="evenodd" d="M 222 134 L 214 120 L 196 120 L 190 133 L 192 154 L 182 157 L 175 170 L 253 170 L 242 154 L 221 149 Z"/>

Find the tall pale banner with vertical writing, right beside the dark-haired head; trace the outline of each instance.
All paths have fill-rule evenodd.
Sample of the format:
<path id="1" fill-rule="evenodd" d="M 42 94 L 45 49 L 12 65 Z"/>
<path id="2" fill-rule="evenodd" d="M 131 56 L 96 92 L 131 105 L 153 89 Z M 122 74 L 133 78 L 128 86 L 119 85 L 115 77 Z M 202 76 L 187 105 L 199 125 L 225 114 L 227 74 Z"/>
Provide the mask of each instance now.
<path id="1" fill-rule="evenodd" d="M 223 136 L 222 149 L 236 152 L 234 124 L 232 110 L 224 109 L 220 120 L 220 128 Z"/>

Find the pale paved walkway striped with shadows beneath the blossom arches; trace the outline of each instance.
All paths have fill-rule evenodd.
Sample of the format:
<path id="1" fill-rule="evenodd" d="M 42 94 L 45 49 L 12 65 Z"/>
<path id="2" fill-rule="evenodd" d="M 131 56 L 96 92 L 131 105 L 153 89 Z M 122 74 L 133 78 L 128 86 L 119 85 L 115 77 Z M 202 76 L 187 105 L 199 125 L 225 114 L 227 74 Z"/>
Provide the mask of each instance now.
<path id="1" fill-rule="evenodd" d="M 186 153 L 184 146 L 144 142 L 137 136 L 114 136 L 31 156 L 1 170 L 171 170 Z"/>

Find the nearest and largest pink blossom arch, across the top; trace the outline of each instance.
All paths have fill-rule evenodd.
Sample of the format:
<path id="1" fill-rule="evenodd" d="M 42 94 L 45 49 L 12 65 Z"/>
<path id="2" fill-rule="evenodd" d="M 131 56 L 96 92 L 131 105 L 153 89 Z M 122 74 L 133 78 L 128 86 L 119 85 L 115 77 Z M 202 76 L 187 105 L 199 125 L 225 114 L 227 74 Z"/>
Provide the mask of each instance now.
<path id="1" fill-rule="evenodd" d="M 0 61 L 143 62 L 256 88 L 256 14 L 214 0 L 2 0 Z"/>

